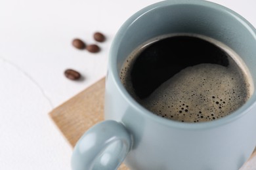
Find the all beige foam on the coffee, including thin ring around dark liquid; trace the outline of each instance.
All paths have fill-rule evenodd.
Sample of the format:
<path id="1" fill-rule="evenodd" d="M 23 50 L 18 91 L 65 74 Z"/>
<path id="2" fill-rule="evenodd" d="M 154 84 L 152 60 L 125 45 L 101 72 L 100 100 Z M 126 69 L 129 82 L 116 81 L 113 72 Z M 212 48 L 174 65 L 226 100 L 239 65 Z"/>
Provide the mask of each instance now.
<path id="1" fill-rule="evenodd" d="M 187 67 L 161 84 L 149 97 L 140 99 L 133 90 L 130 75 L 137 56 L 149 44 L 179 35 L 205 39 L 223 48 L 230 55 L 230 65 L 202 63 Z M 244 105 L 254 91 L 249 70 L 236 52 L 215 39 L 186 33 L 162 35 L 139 46 L 123 63 L 120 78 L 130 95 L 146 109 L 181 122 L 207 122 L 222 118 Z M 214 90 L 216 88 L 219 91 Z"/>

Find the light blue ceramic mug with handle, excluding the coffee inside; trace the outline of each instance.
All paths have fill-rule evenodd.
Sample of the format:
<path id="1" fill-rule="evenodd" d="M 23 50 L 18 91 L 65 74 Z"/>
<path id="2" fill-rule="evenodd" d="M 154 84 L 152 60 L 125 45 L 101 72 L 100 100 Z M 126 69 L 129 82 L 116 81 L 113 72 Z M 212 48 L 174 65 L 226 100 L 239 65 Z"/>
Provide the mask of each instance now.
<path id="1" fill-rule="evenodd" d="M 131 16 L 112 43 L 106 76 L 105 121 L 77 142 L 72 169 L 237 170 L 256 144 L 256 93 L 240 109 L 211 122 L 167 120 L 144 109 L 119 78 L 121 65 L 140 44 L 168 33 L 195 33 L 221 41 L 256 80 L 256 31 L 242 16 L 207 1 L 169 0 Z M 253 88 L 255 84 L 252 84 Z"/>

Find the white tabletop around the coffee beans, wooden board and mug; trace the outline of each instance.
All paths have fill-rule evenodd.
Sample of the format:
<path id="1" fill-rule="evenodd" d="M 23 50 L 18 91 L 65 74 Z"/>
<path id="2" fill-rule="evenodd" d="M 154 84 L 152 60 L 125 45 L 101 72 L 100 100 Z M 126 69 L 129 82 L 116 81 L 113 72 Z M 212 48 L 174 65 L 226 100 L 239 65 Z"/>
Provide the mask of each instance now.
<path id="1" fill-rule="evenodd" d="M 100 0 L 0 1 L 0 169 L 70 169 L 72 148 L 48 112 L 106 74 L 110 44 L 131 14 L 157 2 Z M 215 0 L 256 27 L 256 1 Z M 76 50 L 102 31 L 102 51 Z M 64 77 L 67 68 L 85 80 Z M 256 161 L 254 161 L 256 162 Z M 253 164 L 253 163 L 252 163 Z M 255 169 L 255 165 L 247 169 Z"/>

